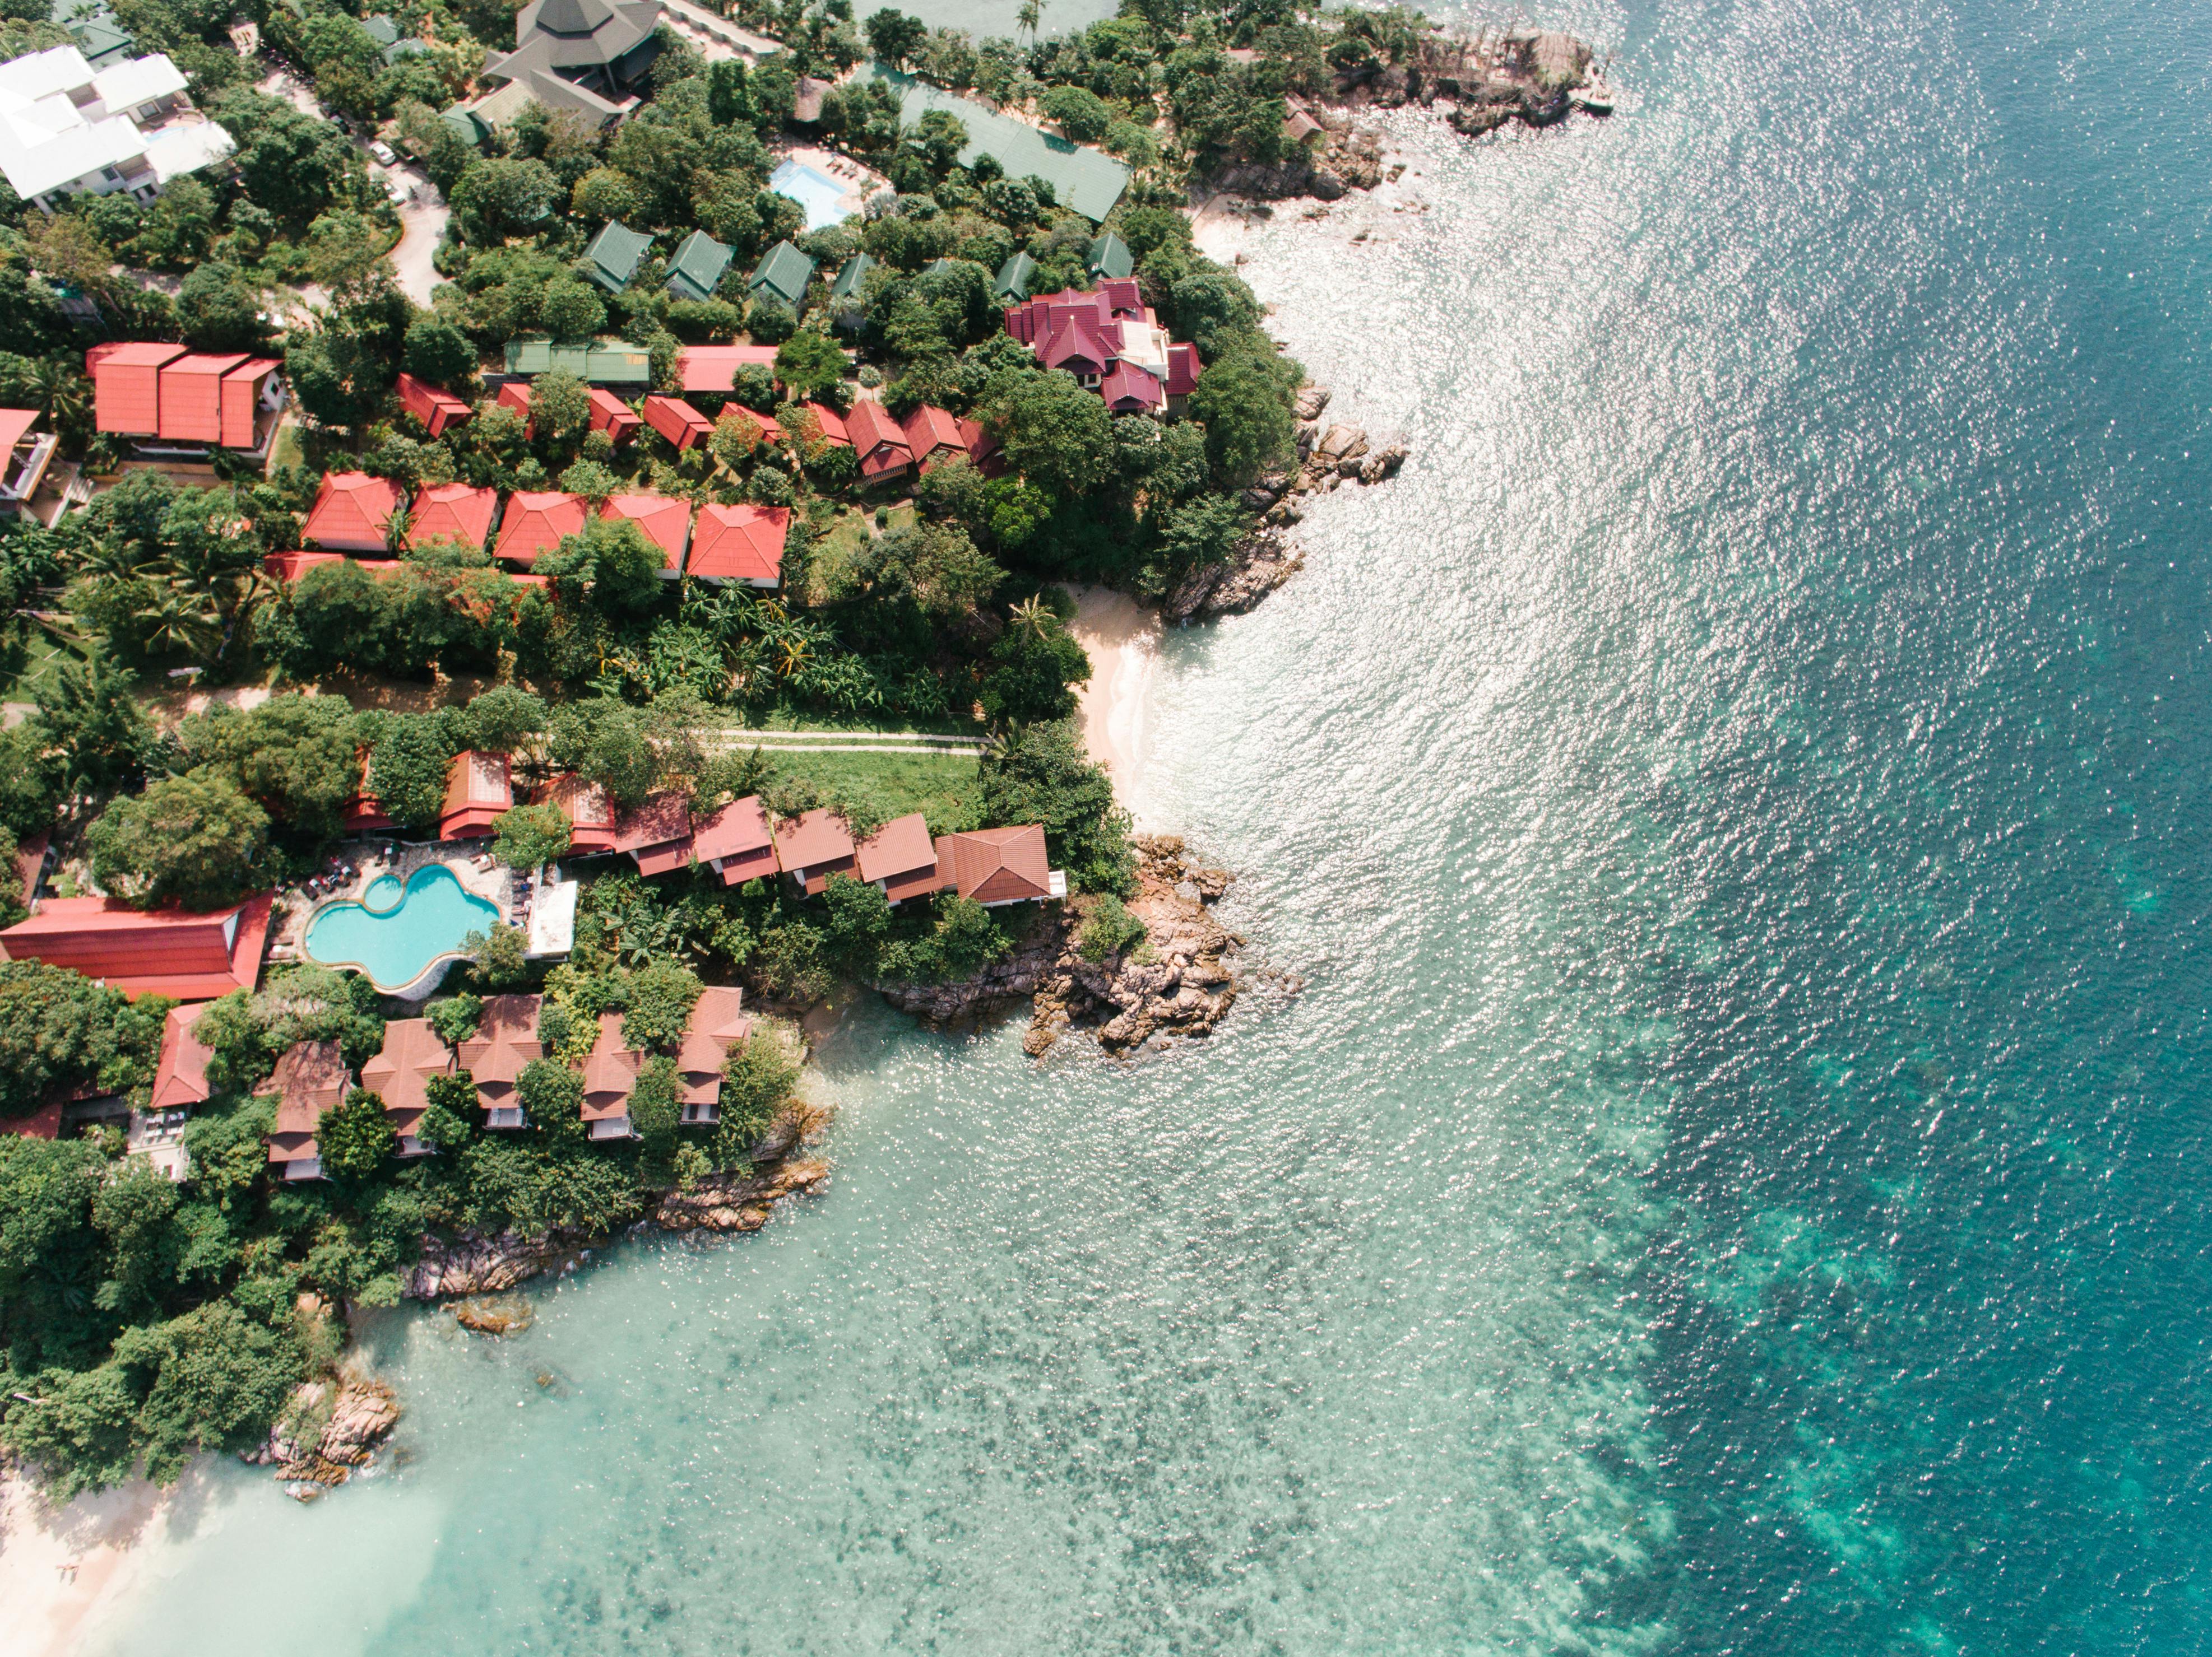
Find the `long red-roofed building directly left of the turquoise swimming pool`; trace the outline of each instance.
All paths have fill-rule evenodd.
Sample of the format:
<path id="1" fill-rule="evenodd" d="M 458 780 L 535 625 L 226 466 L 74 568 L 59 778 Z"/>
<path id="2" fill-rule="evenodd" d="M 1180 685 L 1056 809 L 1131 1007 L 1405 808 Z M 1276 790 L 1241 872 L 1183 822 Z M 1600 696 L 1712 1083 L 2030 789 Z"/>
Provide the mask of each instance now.
<path id="1" fill-rule="evenodd" d="M 133 909 L 117 898 L 46 898 L 0 931 L 9 960 L 44 960 L 100 978 L 126 996 L 215 1000 L 252 989 L 270 931 L 270 898 L 190 914 Z"/>

